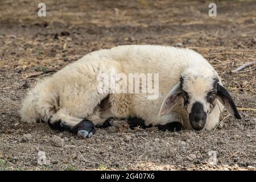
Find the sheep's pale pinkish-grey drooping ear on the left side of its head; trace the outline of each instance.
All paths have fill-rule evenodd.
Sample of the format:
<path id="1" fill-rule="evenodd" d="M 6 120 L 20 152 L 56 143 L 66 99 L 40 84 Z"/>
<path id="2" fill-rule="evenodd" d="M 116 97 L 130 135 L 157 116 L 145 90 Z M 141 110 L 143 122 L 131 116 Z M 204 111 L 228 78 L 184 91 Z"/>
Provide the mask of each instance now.
<path id="1" fill-rule="evenodd" d="M 182 92 L 180 89 L 180 82 L 179 82 L 174 86 L 174 88 L 172 88 L 171 92 L 168 93 L 166 98 L 164 98 L 164 101 L 158 116 L 162 116 L 170 113 L 170 111 L 174 108 L 177 102 L 180 101 L 181 97 L 182 97 Z"/>

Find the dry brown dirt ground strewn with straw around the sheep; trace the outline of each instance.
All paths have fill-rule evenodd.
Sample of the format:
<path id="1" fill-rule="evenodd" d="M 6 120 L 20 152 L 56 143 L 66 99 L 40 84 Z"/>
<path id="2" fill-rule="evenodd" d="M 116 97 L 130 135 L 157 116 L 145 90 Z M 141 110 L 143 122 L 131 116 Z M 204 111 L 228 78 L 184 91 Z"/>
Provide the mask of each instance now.
<path id="1" fill-rule="evenodd" d="M 0 170 L 255 169 L 256 65 L 231 72 L 256 59 L 255 1 L 215 1 L 217 17 L 208 16 L 212 1 L 203 0 L 49 0 L 46 17 L 37 15 L 39 2 L 0 2 Z M 216 129 L 199 134 L 130 130 L 115 121 L 90 139 L 20 121 L 20 102 L 37 80 L 88 52 L 124 44 L 198 51 L 222 77 L 242 120 L 224 111 Z"/>

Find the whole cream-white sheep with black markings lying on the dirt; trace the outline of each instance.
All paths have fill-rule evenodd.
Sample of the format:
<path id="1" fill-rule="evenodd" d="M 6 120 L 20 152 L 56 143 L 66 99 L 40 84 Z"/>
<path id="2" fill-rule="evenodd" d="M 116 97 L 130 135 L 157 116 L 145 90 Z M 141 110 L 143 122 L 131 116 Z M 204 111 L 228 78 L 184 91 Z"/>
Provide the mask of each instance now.
<path id="1" fill-rule="evenodd" d="M 130 73 L 157 73 L 158 79 L 151 81 L 157 88 L 156 97 L 109 92 L 99 76 L 111 79 L 113 71 L 127 77 Z M 115 82 L 120 84 L 120 80 Z M 52 129 L 89 138 L 96 132 L 95 126 L 105 125 L 109 118 L 128 118 L 131 125 L 158 126 L 164 131 L 211 130 L 224 107 L 241 119 L 218 73 L 199 53 L 133 45 L 88 53 L 38 82 L 24 98 L 20 114 L 23 122 L 42 120 Z"/>

